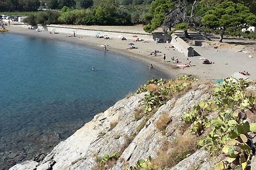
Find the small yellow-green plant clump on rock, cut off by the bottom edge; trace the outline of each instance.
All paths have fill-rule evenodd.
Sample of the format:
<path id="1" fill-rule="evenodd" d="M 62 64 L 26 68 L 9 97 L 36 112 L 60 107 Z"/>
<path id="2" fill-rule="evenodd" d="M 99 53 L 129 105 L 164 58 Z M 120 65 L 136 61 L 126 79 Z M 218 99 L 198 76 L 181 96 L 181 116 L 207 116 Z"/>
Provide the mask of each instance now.
<path id="1" fill-rule="evenodd" d="M 125 168 L 125 170 L 167 170 L 167 168 L 161 169 L 160 167 L 154 166 L 151 162 L 151 157 L 146 160 L 138 160 L 134 167 Z"/>

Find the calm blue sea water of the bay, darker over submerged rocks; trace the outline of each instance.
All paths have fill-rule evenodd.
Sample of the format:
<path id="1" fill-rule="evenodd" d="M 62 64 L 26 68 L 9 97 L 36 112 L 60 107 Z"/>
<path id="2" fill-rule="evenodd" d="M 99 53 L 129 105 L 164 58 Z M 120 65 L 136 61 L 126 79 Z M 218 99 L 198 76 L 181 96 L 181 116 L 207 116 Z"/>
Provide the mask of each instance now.
<path id="1" fill-rule="evenodd" d="M 46 154 L 125 94 L 164 77 L 138 60 L 60 41 L 0 34 L 0 45 L 3 169 Z"/>

